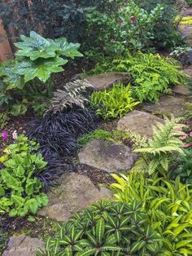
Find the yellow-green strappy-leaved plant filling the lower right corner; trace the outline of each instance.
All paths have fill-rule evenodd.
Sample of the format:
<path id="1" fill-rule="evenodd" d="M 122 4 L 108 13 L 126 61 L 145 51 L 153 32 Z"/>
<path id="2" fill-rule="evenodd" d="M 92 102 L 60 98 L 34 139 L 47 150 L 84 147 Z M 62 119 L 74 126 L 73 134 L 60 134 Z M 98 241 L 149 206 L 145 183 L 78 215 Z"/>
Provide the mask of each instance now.
<path id="1" fill-rule="evenodd" d="M 117 201 L 137 200 L 147 212 L 153 227 L 163 236 L 163 246 L 155 251 L 161 256 L 192 254 L 192 189 L 180 179 L 170 181 L 155 174 L 147 179 L 140 174 L 113 174 L 111 184 Z"/>

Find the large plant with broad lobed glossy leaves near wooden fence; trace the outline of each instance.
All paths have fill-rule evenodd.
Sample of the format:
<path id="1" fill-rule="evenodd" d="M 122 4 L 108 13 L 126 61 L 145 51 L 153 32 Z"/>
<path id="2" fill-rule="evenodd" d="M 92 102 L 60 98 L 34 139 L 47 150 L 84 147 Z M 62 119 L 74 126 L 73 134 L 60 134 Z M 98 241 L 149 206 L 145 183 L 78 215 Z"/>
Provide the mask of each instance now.
<path id="1" fill-rule="evenodd" d="M 0 104 L 11 106 L 13 115 L 26 113 L 34 92 L 41 92 L 42 83 L 52 73 L 62 72 L 62 66 L 68 63 L 68 58 L 82 56 L 77 51 L 80 45 L 68 43 L 66 38 L 46 39 L 34 31 L 29 38 L 24 35 L 20 38 L 21 42 L 15 43 L 19 49 L 15 53 L 15 59 L 2 64 L 0 70 Z M 47 95 L 50 95 L 50 85 L 47 83 Z"/>

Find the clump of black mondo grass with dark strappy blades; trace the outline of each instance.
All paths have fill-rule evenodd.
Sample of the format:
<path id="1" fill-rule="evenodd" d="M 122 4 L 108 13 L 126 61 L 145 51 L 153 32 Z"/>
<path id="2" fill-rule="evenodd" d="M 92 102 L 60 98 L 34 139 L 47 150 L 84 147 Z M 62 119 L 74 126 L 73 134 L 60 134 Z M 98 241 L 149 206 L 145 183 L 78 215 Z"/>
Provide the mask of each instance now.
<path id="1" fill-rule="evenodd" d="M 76 151 L 76 139 L 93 129 L 97 117 L 88 109 L 68 113 L 47 113 L 41 120 L 29 123 L 28 137 L 36 139 L 45 159 L 58 158 Z"/>

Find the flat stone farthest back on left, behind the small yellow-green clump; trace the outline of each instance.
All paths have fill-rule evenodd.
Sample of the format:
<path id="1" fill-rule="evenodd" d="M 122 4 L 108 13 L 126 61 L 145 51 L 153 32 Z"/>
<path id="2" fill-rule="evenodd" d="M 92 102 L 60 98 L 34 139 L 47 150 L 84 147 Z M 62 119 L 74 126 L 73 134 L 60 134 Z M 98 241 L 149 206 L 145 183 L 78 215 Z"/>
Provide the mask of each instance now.
<path id="1" fill-rule="evenodd" d="M 113 85 L 117 85 L 119 82 L 129 84 L 131 79 L 129 73 L 123 72 L 101 73 L 96 76 L 85 78 L 95 90 L 104 90 L 105 88 L 110 88 Z"/>

